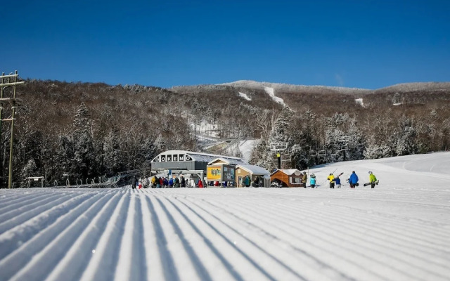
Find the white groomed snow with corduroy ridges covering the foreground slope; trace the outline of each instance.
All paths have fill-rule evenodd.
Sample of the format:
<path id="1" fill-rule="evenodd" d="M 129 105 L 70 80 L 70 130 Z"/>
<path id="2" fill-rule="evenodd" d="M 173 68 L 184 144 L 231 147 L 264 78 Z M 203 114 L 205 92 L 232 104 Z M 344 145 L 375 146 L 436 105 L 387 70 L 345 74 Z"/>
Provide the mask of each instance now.
<path id="1" fill-rule="evenodd" d="M 0 280 L 449 280 L 450 152 L 311 188 L 0 190 Z M 329 189 L 368 171 L 374 189 Z M 343 181 L 345 182 L 345 181 Z"/>

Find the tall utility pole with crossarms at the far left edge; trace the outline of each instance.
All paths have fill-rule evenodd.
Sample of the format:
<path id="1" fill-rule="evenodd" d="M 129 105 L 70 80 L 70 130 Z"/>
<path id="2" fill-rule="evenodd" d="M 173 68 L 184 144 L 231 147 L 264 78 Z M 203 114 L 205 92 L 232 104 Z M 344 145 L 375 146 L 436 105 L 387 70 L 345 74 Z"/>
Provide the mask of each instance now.
<path id="1" fill-rule="evenodd" d="M 22 100 L 15 98 L 15 87 L 20 84 L 25 84 L 25 81 L 17 81 L 18 72 L 15 70 L 15 74 L 5 75 L 3 72 L 0 76 L 0 138 L 1 138 L 1 125 L 2 122 L 11 122 L 11 138 L 9 143 L 9 172 L 8 172 L 8 188 L 12 186 L 13 179 L 13 141 L 14 141 L 14 120 L 15 120 L 15 109 L 22 104 Z M 13 95 L 10 98 L 4 97 L 4 89 L 7 87 L 13 88 Z M 5 106 L 11 106 L 11 116 L 8 118 L 3 117 L 3 110 Z"/>

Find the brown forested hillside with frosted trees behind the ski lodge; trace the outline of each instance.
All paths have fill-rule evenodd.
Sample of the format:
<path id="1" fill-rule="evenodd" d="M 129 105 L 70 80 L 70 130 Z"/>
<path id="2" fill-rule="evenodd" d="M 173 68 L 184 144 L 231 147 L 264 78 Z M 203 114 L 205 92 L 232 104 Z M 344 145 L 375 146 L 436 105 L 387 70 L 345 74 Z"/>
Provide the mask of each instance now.
<path id="1" fill-rule="evenodd" d="M 27 176 L 44 176 L 46 183 L 115 176 L 148 166 L 164 150 L 199 150 L 191 124 L 200 122 L 216 124 L 222 138 L 259 139 L 251 162 L 266 169 L 274 168 L 274 142 L 288 143 L 290 166 L 300 169 L 450 145 L 450 83 L 372 91 L 254 81 L 161 89 L 27 80 L 17 97 L 23 106 L 15 120 L 15 186 Z M 2 114 L 8 118 L 11 110 Z M 10 135 L 11 122 L 3 122 L 2 187 Z"/>

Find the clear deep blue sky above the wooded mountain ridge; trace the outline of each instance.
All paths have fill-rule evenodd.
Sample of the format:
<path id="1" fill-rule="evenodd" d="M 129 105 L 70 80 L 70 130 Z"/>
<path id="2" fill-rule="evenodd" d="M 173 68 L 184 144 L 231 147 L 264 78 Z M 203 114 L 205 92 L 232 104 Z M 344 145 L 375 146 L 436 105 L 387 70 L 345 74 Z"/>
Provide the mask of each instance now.
<path id="1" fill-rule="evenodd" d="M 450 81 L 445 0 L 25 0 L 3 5 L 0 24 L 0 71 L 25 78 L 365 89 Z"/>

